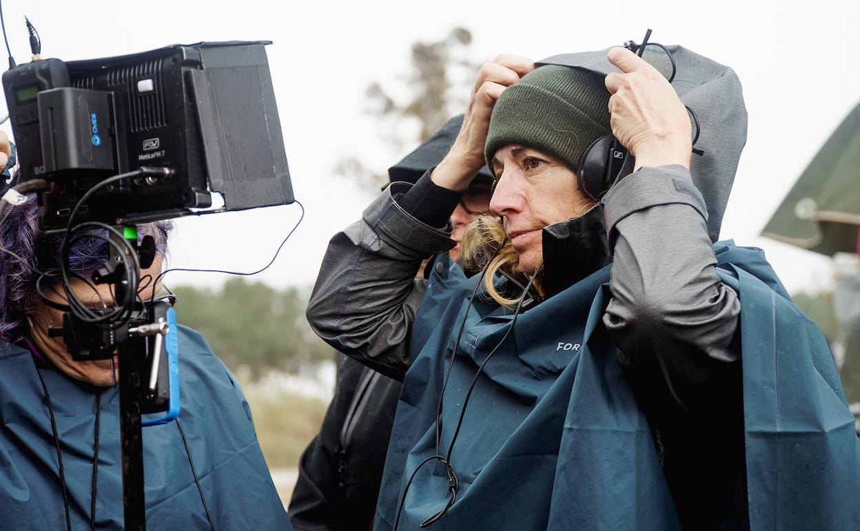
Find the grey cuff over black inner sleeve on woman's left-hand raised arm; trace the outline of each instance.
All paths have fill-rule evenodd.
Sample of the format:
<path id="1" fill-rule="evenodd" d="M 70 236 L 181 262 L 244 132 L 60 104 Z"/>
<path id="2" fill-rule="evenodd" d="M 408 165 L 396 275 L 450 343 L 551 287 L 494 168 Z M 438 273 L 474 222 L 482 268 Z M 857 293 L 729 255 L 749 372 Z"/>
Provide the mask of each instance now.
<path id="1" fill-rule="evenodd" d="M 421 256 L 433 256 L 451 250 L 456 243 L 449 238 L 452 232 L 450 222 L 445 228 L 433 228 L 415 219 L 397 204 L 396 197 L 406 193 L 409 188 L 412 188 L 412 184 L 408 182 L 392 182 L 365 208 L 362 214 L 365 223 L 372 227 L 379 238 Z"/>

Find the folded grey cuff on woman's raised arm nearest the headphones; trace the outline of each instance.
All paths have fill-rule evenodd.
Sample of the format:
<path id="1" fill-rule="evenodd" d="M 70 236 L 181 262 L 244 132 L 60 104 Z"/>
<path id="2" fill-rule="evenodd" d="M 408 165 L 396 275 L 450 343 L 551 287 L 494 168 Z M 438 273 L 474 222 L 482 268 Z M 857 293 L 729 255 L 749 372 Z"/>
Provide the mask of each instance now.
<path id="1" fill-rule="evenodd" d="M 603 198 L 606 231 L 612 238 L 615 225 L 631 213 L 657 205 L 690 205 L 708 219 L 702 193 L 693 184 L 690 170 L 679 164 L 642 167 L 624 177 Z"/>

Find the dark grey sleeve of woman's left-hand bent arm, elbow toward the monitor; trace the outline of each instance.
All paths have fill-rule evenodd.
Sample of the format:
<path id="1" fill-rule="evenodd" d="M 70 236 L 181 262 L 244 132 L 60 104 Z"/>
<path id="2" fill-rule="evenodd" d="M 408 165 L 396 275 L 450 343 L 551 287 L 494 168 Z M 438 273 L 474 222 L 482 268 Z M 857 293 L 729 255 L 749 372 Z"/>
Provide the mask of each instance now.
<path id="1" fill-rule="evenodd" d="M 454 246 L 450 227 L 433 228 L 398 204 L 410 186 L 391 184 L 331 239 L 307 309 L 325 342 L 396 380 L 411 361 L 409 336 L 425 290 L 415 280 L 421 260 Z"/>

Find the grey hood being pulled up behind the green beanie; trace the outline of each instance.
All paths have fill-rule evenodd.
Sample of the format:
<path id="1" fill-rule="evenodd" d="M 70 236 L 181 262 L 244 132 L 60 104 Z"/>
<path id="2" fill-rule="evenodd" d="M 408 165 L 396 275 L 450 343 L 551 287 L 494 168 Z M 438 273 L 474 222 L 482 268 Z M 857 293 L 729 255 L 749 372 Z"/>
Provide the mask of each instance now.
<path id="1" fill-rule="evenodd" d="M 746 107 L 740 80 L 728 66 L 681 46 L 667 46 L 667 49 L 677 65 L 672 85 L 681 102 L 691 108 L 698 120 L 699 138 L 695 147 L 704 151 L 704 154 L 692 156 L 690 170 L 693 182 L 708 208 L 710 239 L 716 242 L 738 168 L 740 151 L 746 144 Z M 607 50 L 562 53 L 539 61 L 537 65 L 585 68 L 606 75 L 618 71 L 606 59 Z M 648 46 L 643 59 L 668 77 L 671 66 L 659 48 Z M 693 123 L 694 135 L 696 129 Z"/>

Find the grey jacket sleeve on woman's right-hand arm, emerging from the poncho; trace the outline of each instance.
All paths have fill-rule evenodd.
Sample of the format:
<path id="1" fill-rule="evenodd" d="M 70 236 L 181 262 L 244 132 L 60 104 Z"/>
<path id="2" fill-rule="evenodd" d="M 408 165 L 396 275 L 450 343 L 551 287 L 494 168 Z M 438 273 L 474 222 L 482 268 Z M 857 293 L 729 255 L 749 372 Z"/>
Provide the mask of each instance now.
<path id="1" fill-rule="evenodd" d="M 716 275 L 707 210 L 682 166 L 643 168 L 605 197 L 614 245 L 604 323 L 632 378 L 651 378 L 685 410 L 739 378 L 740 301 Z"/>

